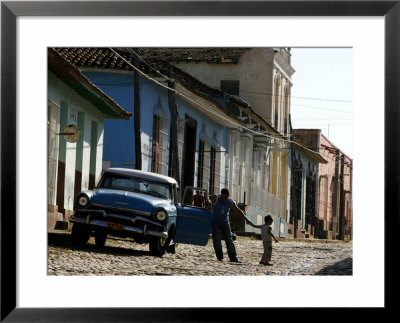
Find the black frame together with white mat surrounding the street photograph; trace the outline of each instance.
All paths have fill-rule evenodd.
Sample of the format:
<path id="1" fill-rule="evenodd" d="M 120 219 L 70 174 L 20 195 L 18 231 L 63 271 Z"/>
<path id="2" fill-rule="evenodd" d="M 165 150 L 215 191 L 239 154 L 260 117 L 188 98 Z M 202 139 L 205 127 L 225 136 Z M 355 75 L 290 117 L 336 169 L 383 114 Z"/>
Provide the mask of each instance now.
<path id="1" fill-rule="evenodd" d="M 270 308 L 390 309 L 399 43 L 398 0 L 2 1 L 1 321 L 235 321 Z M 136 45 L 354 49 L 353 277 L 47 275 L 47 48 Z M 363 246 L 371 240 L 372 259 Z"/>

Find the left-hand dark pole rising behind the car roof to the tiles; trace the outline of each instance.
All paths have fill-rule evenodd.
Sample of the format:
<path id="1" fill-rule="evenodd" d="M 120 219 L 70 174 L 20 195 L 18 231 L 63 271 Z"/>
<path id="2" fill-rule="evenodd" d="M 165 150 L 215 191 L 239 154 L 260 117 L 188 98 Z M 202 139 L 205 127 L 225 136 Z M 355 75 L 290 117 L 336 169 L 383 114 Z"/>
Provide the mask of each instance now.
<path id="1" fill-rule="evenodd" d="M 134 48 L 133 51 L 135 54 L 133 55 L 133 65 L 136 69 L 140 69 L 139 62 L 139 50 L 138 48 Z M 137 70 L 133 72 L 134 78 L 134 135 L 135 135 L 135 168 L 142 169 L 142 142 L 140 138 L 140 80 L 139 80 L 139 72 Z"/>

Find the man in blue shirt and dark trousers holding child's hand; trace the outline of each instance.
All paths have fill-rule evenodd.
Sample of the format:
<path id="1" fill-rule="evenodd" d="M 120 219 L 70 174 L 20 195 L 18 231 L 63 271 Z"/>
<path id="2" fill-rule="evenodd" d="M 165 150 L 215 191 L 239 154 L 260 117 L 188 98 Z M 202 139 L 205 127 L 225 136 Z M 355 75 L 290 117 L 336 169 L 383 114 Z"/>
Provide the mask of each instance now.
<path id="1" fill-rule="evenodd" d="M 215 255 L 219 261 L 222 261 L 223 252 L 221 240 L 224 239 L 230 261 L 240 262 L 237 258 L 235 245 L 232 240 L 231 226 L 229 224 L 229 210 L 233 207 L 234 210 L 244 217 L 246 223 L 248 223 L 246 215 L 238 208 L 236 202 L 229 197 L 229 191 L 226 188 L 221 190 L 221 194 L 210 195 L 209 199 L 212 203 L 215 203 L 211 224 Z"/>

